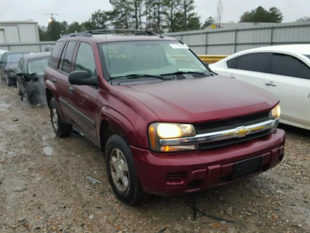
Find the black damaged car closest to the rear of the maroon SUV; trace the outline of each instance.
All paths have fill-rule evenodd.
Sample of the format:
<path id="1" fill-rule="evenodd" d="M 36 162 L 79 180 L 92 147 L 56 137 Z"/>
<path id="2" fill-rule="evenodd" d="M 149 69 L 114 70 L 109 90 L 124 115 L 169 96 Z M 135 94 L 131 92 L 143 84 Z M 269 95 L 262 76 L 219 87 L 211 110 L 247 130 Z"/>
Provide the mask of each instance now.
<path id="1" fill-rule="evenodd" d="M 42 104 L 45 98 L 44 71 L 47 68 L 51 52 L 34 53 L 23 56 L 17 67 L 17 93 L 31 104 Z"/>

